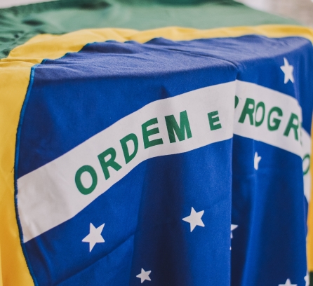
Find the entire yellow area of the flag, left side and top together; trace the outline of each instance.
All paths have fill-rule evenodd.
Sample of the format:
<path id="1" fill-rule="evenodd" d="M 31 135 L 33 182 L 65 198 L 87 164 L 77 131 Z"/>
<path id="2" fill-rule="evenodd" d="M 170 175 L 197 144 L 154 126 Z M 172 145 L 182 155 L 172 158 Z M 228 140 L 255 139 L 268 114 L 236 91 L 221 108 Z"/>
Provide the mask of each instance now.
<path id="1" fill-rule="evenodd" d="M 13 166 L 15 136 L 20 110 L 29 83 L 30 69 L 45 58 L 51 60 L 65 53 L 78 52 L 86 43 L 95 41 L 138 41 L 145 43 L 156 37 L 174 41 L 208 39 L 258 34 L 272 38 L 302 36 L 313 42 L 313 29 L 290 25 L 230 27 L 220 29 L 188 29 L 166 27 L 147 31 L 133 29 L 84 29 L 61 36 L 41 34 L 14 48 L 6 59 L 0 60 L 0 286 L 34 285 L 20 247 L 14 207 Z M 313 224 L 313 212 L 309 214 Z M 309 233 L 309 253 L 313 240 Z M 309 257 L 313 270 L 313 255 Z"/>

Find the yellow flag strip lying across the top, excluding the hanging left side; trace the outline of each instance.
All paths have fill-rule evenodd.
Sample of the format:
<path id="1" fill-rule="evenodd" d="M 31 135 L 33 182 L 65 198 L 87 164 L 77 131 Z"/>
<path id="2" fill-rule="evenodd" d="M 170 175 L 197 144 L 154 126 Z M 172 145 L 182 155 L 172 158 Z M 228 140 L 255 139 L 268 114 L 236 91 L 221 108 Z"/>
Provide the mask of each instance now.
<path id="1" fill-rule="evenodd" d="M 302 36 L 313 42 L 313 29 L 291 25 L 262 25 L 256 27 L 230 27 L 218 29 L 190 29 L 182 27 L 165 27 L 146 31 L 133 29 L 84 29 L 62 36 L 40 34 L 25 44 L 14 48 L 6 59 L 0 62 L 29 62 L 38 64 L 45 58 L 57 59 L 65 53 L 78 52 L 86 43 L 96 41 L 138 41 L 145 43 L 157 37 L 164 37 L 173 41 L 189 41 L 194 39 L 208 39 L 221 37 L 236 37 L 247 34 L 263 35 L 271 38 L 286 36 Z"/>

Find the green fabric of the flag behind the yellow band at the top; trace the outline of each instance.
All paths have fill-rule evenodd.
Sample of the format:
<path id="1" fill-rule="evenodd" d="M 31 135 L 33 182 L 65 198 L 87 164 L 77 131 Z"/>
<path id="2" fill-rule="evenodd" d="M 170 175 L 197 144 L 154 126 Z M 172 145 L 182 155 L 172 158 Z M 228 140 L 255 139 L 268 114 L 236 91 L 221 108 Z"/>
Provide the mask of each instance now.
<path id="1" fill-rule="evenodd" d="M 294 20 L 253 10 L 231 0 L 60 0 L 0 10 L 0 57 L 36 34 L 78 29 L 167 26 L 209 29 Z"/>

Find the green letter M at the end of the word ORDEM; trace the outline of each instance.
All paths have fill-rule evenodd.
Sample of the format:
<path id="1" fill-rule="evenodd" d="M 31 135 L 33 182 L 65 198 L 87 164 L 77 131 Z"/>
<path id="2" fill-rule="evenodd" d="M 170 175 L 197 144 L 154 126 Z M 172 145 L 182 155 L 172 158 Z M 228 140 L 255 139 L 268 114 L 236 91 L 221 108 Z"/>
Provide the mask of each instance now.
<path id="1" fill-rule="evenodd" d="M 187 111 L 180 112 L 180 125 L 178 125 L 173 115 L 165 116 L 165 121 L 168 138 L 171 143 L 176 142 L 175 134 L 180 141 L 185 140 L 185 133 L 187 134 L 188 139 L 192 137 L 192 130 L 190 130 Z"/>

